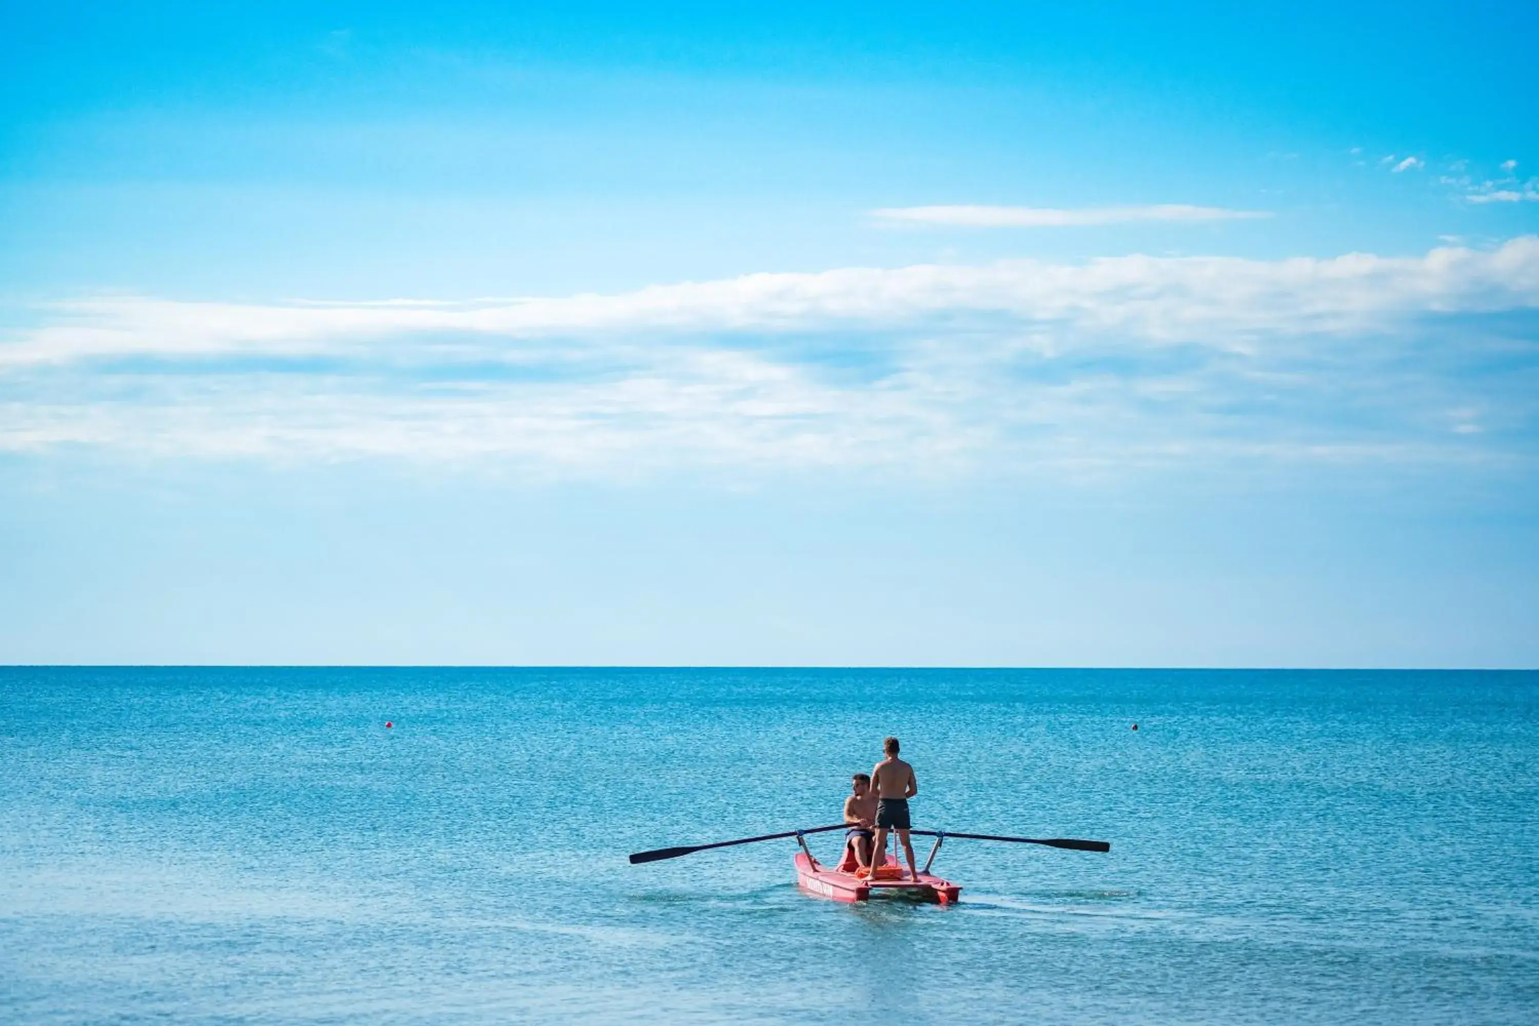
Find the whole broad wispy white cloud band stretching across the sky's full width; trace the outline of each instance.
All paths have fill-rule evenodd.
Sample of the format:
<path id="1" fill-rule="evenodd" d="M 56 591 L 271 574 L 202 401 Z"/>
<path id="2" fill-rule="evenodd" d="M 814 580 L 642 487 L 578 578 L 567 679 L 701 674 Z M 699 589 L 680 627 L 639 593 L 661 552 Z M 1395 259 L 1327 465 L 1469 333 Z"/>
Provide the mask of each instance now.
<path id="1" fill-rule="evenodd" d="M 1490 458 L 1531 448 L 1536 309 L 1531 237 L 482 303 L 97 297 L 0 341 L 0 448 L 602 474 Z"/>

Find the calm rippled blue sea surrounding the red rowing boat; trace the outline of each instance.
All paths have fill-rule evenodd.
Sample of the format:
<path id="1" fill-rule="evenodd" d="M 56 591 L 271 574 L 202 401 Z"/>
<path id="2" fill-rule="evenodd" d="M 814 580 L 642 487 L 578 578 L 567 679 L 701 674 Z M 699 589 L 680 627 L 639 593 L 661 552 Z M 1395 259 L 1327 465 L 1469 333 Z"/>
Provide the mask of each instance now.
<path id="1" fill-rule="evenodd" d="M 626 861 L 886 734 L 916 826 L 1111 852 Z M 574 1018 L 1536 1023 L 1539 674 L 0 669 L 0 1020 Z"/>

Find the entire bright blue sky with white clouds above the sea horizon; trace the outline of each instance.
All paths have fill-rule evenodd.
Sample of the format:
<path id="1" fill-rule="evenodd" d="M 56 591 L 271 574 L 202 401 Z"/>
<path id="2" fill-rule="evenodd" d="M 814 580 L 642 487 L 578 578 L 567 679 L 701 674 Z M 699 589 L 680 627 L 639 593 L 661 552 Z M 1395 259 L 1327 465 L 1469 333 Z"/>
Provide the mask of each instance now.
<path id="1" fill-rule="evenodd" d="M 0 661 L 1539 666 L 1531 5 L 0 0 Z"/>

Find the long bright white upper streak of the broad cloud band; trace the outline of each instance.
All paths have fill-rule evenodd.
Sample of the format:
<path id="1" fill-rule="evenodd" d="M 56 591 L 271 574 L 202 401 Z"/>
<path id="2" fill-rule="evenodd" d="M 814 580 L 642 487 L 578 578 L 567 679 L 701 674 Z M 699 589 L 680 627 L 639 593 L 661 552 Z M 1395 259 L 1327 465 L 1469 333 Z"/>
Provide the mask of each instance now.
<path id="1" fill-rule="evenodd" d="M 1230 346 L 1253 332 L 1371 331 L 1428 311 L 1539 305 L 1539 237 L 1493 251 L 1334 258 L 1108 257 L 1077 265 L 845 268 L 480 303 L 182 303 L 98 297 L 0 343 L 0 366 L 100 357 L 520 361 L 577 340 L 963 323 L 1059 325 Z"/>

